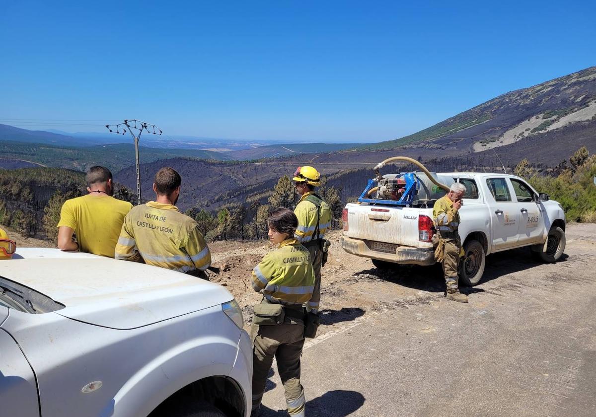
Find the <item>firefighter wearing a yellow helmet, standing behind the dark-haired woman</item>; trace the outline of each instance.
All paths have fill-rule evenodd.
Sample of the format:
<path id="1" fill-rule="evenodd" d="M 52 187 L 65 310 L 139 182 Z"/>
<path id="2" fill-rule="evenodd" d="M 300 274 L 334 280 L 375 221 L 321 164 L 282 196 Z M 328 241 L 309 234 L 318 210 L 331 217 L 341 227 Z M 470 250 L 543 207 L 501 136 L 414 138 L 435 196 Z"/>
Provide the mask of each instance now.
<path id="1" fill-rule="evenodd" d="M 325 234 L 331 229 L 331 210 L 329 205 L 314 192 L 321 185 L 321 175 L 313 167 L 298 167 L 294 172 L 294 185 L 300 195 L 294 213 L 298 217 L 296 238 L 311 253 L 312 267 L 315 271 L 315 292 L 306 305 L 308 311 L 317 313 L 321 300 L 321 266 L 327 256 Z"/>

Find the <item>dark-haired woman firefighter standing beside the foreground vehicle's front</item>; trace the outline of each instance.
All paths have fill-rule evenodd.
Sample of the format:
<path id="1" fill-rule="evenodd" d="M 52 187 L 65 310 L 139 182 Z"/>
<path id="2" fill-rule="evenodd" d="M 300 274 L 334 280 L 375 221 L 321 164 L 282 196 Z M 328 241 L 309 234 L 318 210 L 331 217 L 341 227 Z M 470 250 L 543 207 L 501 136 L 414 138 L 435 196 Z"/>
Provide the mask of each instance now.
<path id="1" fill-rule="evenodd" d="M 269 240 L 279 247 L 253 269 L 254 291 L 263 293 L 254 306 L 250 335 L 253 341 L 253 410 L 260 403 L 273 358 L 284 385 L 290 416 L 304 416 L 305 396 L 300 384 L 300 356 L 305 341 L 303 304 L 313 297 L 315 275 L 308 249 L 294 238 L 298 219 L 291 210 L 276 208 L 267 218 Z"/>

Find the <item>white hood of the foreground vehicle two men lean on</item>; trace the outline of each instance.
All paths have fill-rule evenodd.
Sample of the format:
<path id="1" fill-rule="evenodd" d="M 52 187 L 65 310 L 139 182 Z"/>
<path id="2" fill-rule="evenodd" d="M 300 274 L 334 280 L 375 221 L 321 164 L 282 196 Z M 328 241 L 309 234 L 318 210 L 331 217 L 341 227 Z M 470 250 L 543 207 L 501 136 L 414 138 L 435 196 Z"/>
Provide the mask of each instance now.
<path id="1" fill-rule="evenodd" d="M 58 249 L 17 248 L 0 276 L 64 304 L 55 313 L 93 325 L 131 329 L 231 301 L 223 287 L 136 262 Z"/>

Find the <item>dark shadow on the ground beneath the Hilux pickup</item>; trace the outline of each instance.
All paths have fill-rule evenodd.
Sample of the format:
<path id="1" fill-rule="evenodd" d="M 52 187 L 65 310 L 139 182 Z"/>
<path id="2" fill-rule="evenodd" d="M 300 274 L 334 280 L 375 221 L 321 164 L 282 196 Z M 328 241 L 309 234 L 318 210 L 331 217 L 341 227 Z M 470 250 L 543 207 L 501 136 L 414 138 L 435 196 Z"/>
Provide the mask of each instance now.
<path id="1" fill-rule="evenodd" d="M 569 256 L 564 254 L 559 262 L 566 262 Z M 538 266 L 541 262 L 533 259 L 529 248 L 517 248 L 513 250 L 495 253 L 486 257 L 485 272 L 480 284 L 492 281 L 501 276 L 514 272 L 521 272 Z M 404 287 L 414 288 L 428 292 L 444 292 L 445 281 L 443 281 L 443 270 L 439 264 L 432 266 L 418 265 L 396 265 L 392 269 L 372 268 L 362 270 L 355 274 L 358 280 L 374 279 L 395 282 Z M 465 294 L 482 292 L 478 288 L 464 288 Z"/>

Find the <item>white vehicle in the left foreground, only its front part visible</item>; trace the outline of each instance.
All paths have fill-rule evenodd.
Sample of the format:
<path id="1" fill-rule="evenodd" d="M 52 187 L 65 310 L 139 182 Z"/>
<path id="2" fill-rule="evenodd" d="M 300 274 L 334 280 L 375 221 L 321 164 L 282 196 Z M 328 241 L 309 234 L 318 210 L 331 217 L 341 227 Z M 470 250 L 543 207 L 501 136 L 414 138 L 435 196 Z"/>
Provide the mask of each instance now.
<path id="1" fill-rule="evenodd" d="M 1 417 L 247 417 L 252 344 L 224 287 L 136 262 L 0 260 Z"/>

